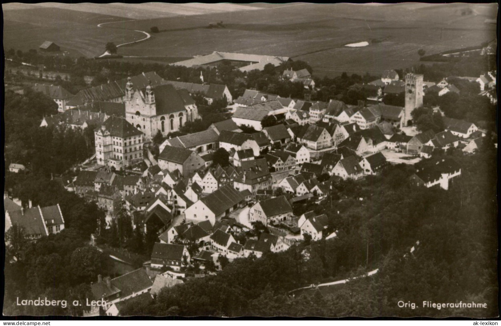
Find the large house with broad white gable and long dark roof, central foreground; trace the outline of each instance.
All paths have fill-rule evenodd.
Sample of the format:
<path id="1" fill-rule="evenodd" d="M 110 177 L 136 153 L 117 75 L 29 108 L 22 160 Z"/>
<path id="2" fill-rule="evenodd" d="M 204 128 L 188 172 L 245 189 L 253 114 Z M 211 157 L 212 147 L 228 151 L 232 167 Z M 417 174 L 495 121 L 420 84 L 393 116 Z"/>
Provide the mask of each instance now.
<path id="1" fill-rule="evenodd" d="M 198 223 L 209 220 L 212 225 L 216 221 L 237 209 L 244 197 L 239 190 L 228 184 L 200 198 L 184 211 L 187 222 Z"/>

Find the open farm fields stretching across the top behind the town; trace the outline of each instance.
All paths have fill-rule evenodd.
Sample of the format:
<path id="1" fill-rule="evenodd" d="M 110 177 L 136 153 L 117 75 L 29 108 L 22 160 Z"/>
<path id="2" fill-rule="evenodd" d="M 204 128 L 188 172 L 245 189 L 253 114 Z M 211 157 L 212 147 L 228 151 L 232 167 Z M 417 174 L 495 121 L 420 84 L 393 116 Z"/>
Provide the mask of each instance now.
<path id="1" fill-rule="evenodd" d="M 116 8 L 118 5 L 114 4 Z M 135 13 L 134 17 L 146 17 L 148 11 L 154 11 L 157 6 L 148 5 L 150 7 L 132 6 L 130 10 Z M 387 6 L 393 7 L 391 15 Z M 147 41 L 120 47 L 118 54 L 155 62 L 172 62 L 169 58 L 189 58 L 213 51 L 286 56 L 308 62 L 315 75 L 335 76 L 342 72 L 378 74 L 386 69 L 405 68 L 418 62 L 418 49 L 434 54 L 478 46 L 496 37 L 496 26 L 484 22 L 495 18 L 496 4 L 294 3 L 240 7 L 242 10 L 237 10 L 238 5 L 232 5 L 226 12 L 219 13 L 213 13 L 217 8 L 211 7 L 202 14 L 193 14 L 199 7 L 190 11 L 189 7 L 169 9 L 165 6 L 158 7 L 156 13 L 169 17 L 149 16 L 149 19 L 128 21 L 123 18 L 126 13 L 122 11 L 106 12 L 115 12 L 121 17 L 74 11 L 82 16 L 71 19 L 64 29 L 61 23 L 70 21 L 68 17 L 54 13 L 48 20 L 47 17 L 42 19 L 46 16 L 43 14 L 39 15 L 37 23 L 33 15 L 41 10 L 70 12 L 67 9 L 5 11 L 4 46 L 28 50 L 50 40 L 65 50 L 72 49 L 91 57 L 102 54 L 107 42 L 120 44 L 139 40 L 144 35 L 135 30 L 149 32 L 156 26 L 160 33 L 151 34 Z M 464 14 L 465 10 L 469 14 Z M 207 28 L 210 23 L 220 21 L 225 28 Z M 116 23 L 97 27 L 105 22 Z M 369 46 L 345 47 L 362 41 L 369 42 Z"/>

